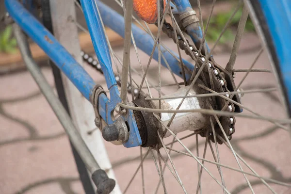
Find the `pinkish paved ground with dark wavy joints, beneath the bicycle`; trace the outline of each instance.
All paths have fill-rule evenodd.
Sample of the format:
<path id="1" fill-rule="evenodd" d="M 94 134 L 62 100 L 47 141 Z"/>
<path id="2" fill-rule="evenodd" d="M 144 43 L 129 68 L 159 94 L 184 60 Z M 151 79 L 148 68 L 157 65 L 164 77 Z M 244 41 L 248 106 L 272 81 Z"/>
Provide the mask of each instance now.
<path id="1" fill-rule="evenodd" d="M 169 44 L 166 42 L 165 44 Z M 241 49 L 249 49 L 239 55 L 236 68 L 248 68 L 255 58 L 258 49 L 256 36 L 244 38 Z M 175 49 L 175 46 L 171 46 Z M 122 56 L 120 49 L 117 54 Z M 141 53 L 143 65 L 146 65 L 146 55 Z M 215 57 L 219 64 L 226 64 L 227 55 L 217 54 Z M 135 60 L 135 59 L 133 59 Z M 136 69 L 138 64 L 132 63 Z M 153 62 L 152 65 L 155 65 Z M 270 68 L 266 54 L 260 57 L 255 68 Z M 98 81 L 100 76 L 90 67 L 86 67 L 90 74 Z M 53 78 L 48 67 L 42 68 L 43 73 L 53 86 Z M 173 83 L 171 76 L 164 71 L 162 84 Z M 157 76 L 157 65 L 149 72 L 149 77 Z M 240 81 L 243 73 L 237 73 L 236 81 Z M 136 79 L 137 76 L 134 76 Z M 104 81 L 103 81 L 104 83 Z M 255 83 L 255 85 L 253 84 Z M 243 83 L 243 89 L 268 88 L 275 85 L 272 74 L 251 73 Z M 164 88 L 166 93 L 173 87 Z M 0 194 L 82 194 L 81 183 L 76 170 L 72 153 L 64 130 L 57 118 L 49 108 L 45 98 L 40 94 L 37 85 L 33 82 L 29 72 L 18 72 L 0 76 Z M 156 93 L 154 93 L 156 95 Z M 282 105 L 277 93 L 244 95 L 242 103 L 254 111 L 266 116 L 279 118 L 284 116 Z M 247 111 L 245 111 L 247 113 Z M 183 134 L 186 134 L 184 132 Z M 180 134 L 180 137 L 182 134 Z M 169 141 L 169 140 L 166 140 Z M 199 137 L 199 153 L 203 153 L 204 138 Z M 272 124 L 257 122 L 250 119 L 237 119 L 236 133 L 231 141 L 234 149 L 248 162 L 259 175 L 274 178 L 283 182 L 291 182 L 290 170 L 290 136 L 282 129 L 276 129 Z M 194 152 L 196 145 L 194 137 L 184 141 L 185 145 Z M 129 178 L 138 165 L 138 160 L 127 160 L 137 156 L 139 148 L 126 149 L 105 143 L 113 169 L 120 187 L 126 187 Z M 183 150 L 181 146 L 175 148 Z M 208 148 L 209 149 L 209 148 Z M 229 149 L 220 146 L 222 163 L 238 168 Z M 164 154 L 164 152 L 162 152 Z M 178 173 L 189 194 L 195 193 L 197 184 L 197 164 L 193 159 L 178 154 L 172 155 L 177 165 Z M 213 160 L 208 150 L 206 158 Z M 214 176 L 219 178 L 216 166 L 205 164 Z M 250 172 L 243 166 L 243 169 Z M 227 189 L 233 194 L 249 194 L 250 190 L 245 184 L 242 175 L 223 169 Z M 159 177 L 152 158 L 145 162 L 146 192 L 153 193 Z M 166 185 L 169 194 L 182 193 L 181 187 L 169 171 L 165 172 Z M 222 189 L 207 175 L 202 174 L 203 193 L 222 193 Z M 268 190 L 258 178 L 248 176 L 256 193 L 269 194 Z M 290 194 L 287 187 L 270 184 L 279 194 Z M 138 175 L 131 187 L 129 194 L 141 193 L 141 176 Z M 162 187 L 159 190 L 162 193 Z"/>

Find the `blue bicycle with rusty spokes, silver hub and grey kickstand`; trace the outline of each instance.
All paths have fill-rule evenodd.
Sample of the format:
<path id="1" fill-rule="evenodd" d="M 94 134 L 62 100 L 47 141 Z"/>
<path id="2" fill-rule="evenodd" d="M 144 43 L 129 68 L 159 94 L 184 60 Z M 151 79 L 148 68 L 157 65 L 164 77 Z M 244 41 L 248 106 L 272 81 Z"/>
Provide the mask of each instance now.
<path id="1" fill-rule="evenodd" d="M 43 2 L 48 1 L 44 0 Z M 275 119 L 272 117 L 262 116 L 260 113 L 252 111 L 247 106 L 241 104 L 241 94 L 255 92 L 240 91 L 238 89 L 240 88 L 245 77 L 252 71 L 255 62 L 262 54 L 262 49 L 259 51 L 254 63 L 252 63 L 250 68 L 245 70 L 245 76 L 237 85 L 234 82 L 233 70 L 245 21 L 247 19 L 248 13 L 250 12 L 253 20 L 256 23 L 257 32 L 263 37 L 262 39 L 265 44 L 265 48 L 268 50 L 271 63 L 274 66 L 274 74 L 277 76 L 278 85 L 281 88 L 284 105 L 287 107 L 287 112 L 290 115 L 290 76 L 288 63 L 290 61 L 290 56 L 288 55 L 288 45 L 290 45 L 289 43 L 291 40 L 289 40 L 287 37 L 288 32 L 291 30 L 291 23 L 288 17 L 290 15 L 289 10 L 291 9 L 291 4 L 288 4 L 287 0 L 278 0 L 275 3 L 272 3 L 268 0 L 244 1 L 245 5 L 242 11 L 242 17 L 236 34 L 235 43 L 232 48 L 231 56 L 226 65 L 226 68 L 221 67 L 214 61 L 215 56 L 213 55 L 213 48 L 215 48 L 219 42 L 219 39 L 215 42 L 212 49 L 210 49 L 205 41 L 205 34 L 208 30 L 208 24 L 210 22 L 216 0 L 213 0 L 212 2 L 213 4 L 210 11 L 210 17 L 205 29 L 200 27 L 203 26 L 203 20 L 201 16 L 201 6 L 199 0 L 198 9 L 200 18 L 196 16 L 196 12 L 192 9 L 192 6 L 188 0 L 174 0 L 174 2 L 157 1 L 158 11 L 155 12 L 156 17 L 153 20 L 152 18 L 147 20 L 148 23 L 161 21 L 157 22 L 157 37 L 153 36 L 147 26 L 144 26 L 145 29 L 141 30 L 135 24 L 131 24 L 132 7 L 135 8 L 135 11 L 137 11 L 141 17 L 143 17 L 142 10 L 144 7 L 139 10 L 136 7 L 137 4 L 135 4 L 136 6 L 132 6 L 132 1 L 130 0 L 126 2 L 118 1 L 125 11 L 125 19 L 114 12 L 110 7 L 97 0 L 88 0 L 87 2 L 85 0 L 81 0 L 81 5 L 77 1 L 69 2 L 70 1 L 50 1 L 50 6 L 53 9 L 49 11 L 47 10 L 47 12 L 43 12 L 43 17 L 45 18 L 48 16 L 49 18 L 50 13 L 57 14 L 58 16 L 64 14 L 61 12 L 62 9 L 64 9 L 64 7 L 60 5 L 61 3 L 70 6 L 76 3 L 78 7 L 81 7 L 81 10 L 84 12 L 87 26 L 92 38 L 92 43 L 97 54 L 97 61 L 92 57 L 90 58 L 89 55 L 84 52 L 81 52 L 81 55 L 79 55 L 78 52 L 70 51 L 73 52 L 73 57 L 73 55 L 70 54 L 56 40 L 56 38 L 45 29 L 43 24 L 41 24 L 35 18 L 35 16 L 33 16 L 31 12 L 25 9 L 24 6 L 17 0 L 5 0 L 5 5 L 9 15 L 16 22 L 16 24 L 14 24 L 14 32 L 23 59 L 28 69 L 31 71 L 33 78 L 39 84 L 43 94 L 46 96 L 52 109 L 68 133 L 68 136 L 74 147 L 73 149 L 76 149 L 76 151 L 79 153 L 81 160 L 84 162 L 87 170 L 92 175 L 93 182 L 97 186 L 97 193 L 108 194 L 112 191 L 113 193 L 121 193 L 121 191 L 119 186 L 115 185 L 115 181 L 113 180 L 115 179 L 113 170 L 106 156 L 103 143 L 100 141 L 95 142 L 97 143 L 97 146 L 94 147 L 95 145 L 92 146 L 92 140 L 87 137 L 88 134 L 84 133 L 86 131 L 78 132 L 77 130 L 77 128 L 80 130 L 88 128 L 89 126 L 84 124 L 84 122 L 87 120 L 90 120 L 91 122 L 93 120 L 95 121 L 95 125 L 97 128 L 101 129 L 102 137 L 106 141 L 113 142 L 114 144 L 123 144 L 125 147 L 149 147 L 146 151 L 146 154 L 142 154 L 141 148 L 141 163 L 138 169 L 135 171 L 134 176 L 140 168 L 143 171 L 143 162 L 147 155 L 151 153 L 159 175 L 159 183 L 155 190 L 156 193 L 159 191 L 160 184 L 162 184 L 163 192 L 167 193 L 164 180 L 165 177 L 163 176 L 163 172 L 166 167 L 170 170 L 173 178 L 177 180 L 178 185 L 181 186 L 182 191 L 187 193 L 187 190 L 178 175 L 178 171 L 176 170 L 174 162 L 171 159 L 170 151 L 189 156 L 198 163 L 199 173 L 197 187 L 194 186 L 194 192 L 196 193 L 202 191 L 201 176 L 203 170 L 206 171 L 211 178 L 213 178 L 219 187 L 221 187 L 220 192 L 229 193 L 227 190 L 227 183 L 225 182 L 226 177 L 223 176 L 221 167 L 242 173 L 243 178 L 245 179 L 244 181 L 252 193 L 254 193 L 254 189 L 246 175 L 259 178 L 262 184 L 264 184 L 272 193 L 276 192 L 269 185 L 270 182 L 288 187 L 291 186 L 289 183 L 275 180 L 273 178 L 260 177 L 256 171 L 242 159 L 239 153 L 237 153 L 233 146 L 230 144 L 232 135 L 235 132 L 235 117 L 245 117 L 268 121 L 274 124 L 277 128 L 285 129 L 287 131 L 286 133 L 290 132 L 289 119 Z M 137 0 L 134 2 L 137 3 L 139 1 Z M 124 3 L 125 5 L 123 5 Z M 35 7 L 33 5 L 34 4 L 28 4 L 26 6 L 29 10 L 32 11 Z M 44 5 L 42 6 L 43 9 L 45 9 Z M 242 6 L 242 0 L 239 0 L 238 5 L 233 11 L 233 14 L 226 22 L 226 27 L 240 6 Z M 72 13 L 73 12 L 70 14 Z M 170 16 L 170 22 L 165 21 L 165 17 L 167 15 Z M 58 36 L 60 41 L 67 47 L 68 50 L 70 50 L 73 47 L 79 47 L 74 44 L 78 43 L 78 40 L 74 39 L 74 41 L 66 42 L 66 37 L 64 37 L 66 34 L 61 34 L 62 30 L 64 30 L 62 29 L 62 23 L 68 23 L 67 26 L 75 26 L 76 23 L 74 21 L 75 18 L 73 15 L 68 14 L 65 16 L 67 17 L 64 20 L 60 20 L 59 23 L 58 21 L 52 21 L 52 23 L 55 25 L 53 29 L 56 33 L 56 36 Z M 133 17 L 133 19 L 136 22 L 139 22 L 135 17 Z M 200 22 L 201 25 L 199 25 Z M 49 19 L 44 19 L 43 23 L 50 31 L 52 31 L 52 24 Z M 125 37 L 121 76 L 115 75 L 113 73 L 112 64 L 114 64 L 114 60 L 119 59 L 116 57 L 116 54 L 114 54 L 106 34 L 104 33 L 104 25 Z M 226 27 L 223 31 L 225 31 Z M 76 36 L 76 26 L 72 29 L 72 31 L 71 29 L 64 31 L 73 33 Z M 50 86 L 45 81 L 39 68 L 33 61 L 31 53 L 28 49 L 26 37 L 22 30 L 49 55 L 54 64 L 74 84 L 73 86 L 68 81 L 65 81 L 64 84 L 68 85 L 68 90 L 66 90 L 65 95 L 62 83 L 57 82 L 59 84 L 58 95 L 61 98 L 63 105 L 60 100 L 54 96 Z M 167 49 L 161 43 L 161 31 L 163 31 L 176 43 L 178 54 L 175 54 L 173 51 Z M 190 36 L 194 44 L 185 38 L 182 31 L 186 32 Z M 137 84 L 132 79 L 132 68 L 130 66 L 130 41 L 133 42 L 136 53 L 138 53 L 136 49 L 138 47 L 150 55 L 146 70 L 143 69 L 143 66 L 140 64 L 142 71 L 141 84 Z M 70 46 L 72 47 L 70 48 Z M 183 59 L 180 49 L 184 50 L 185 53 L 194 60 L 194 62 L 190 63 Z M 83 59 L 85 59 L 88 63 L 95 66 L 97 70 L 103 73 L 107 88 L 109 90 L 110 98 L 107 97 L 106 92 L 102 86 L 96 84 L 95 81 L 78 63 L 81 62 L 81 57 L 83 57 Z M 111 57 L 113 58 L 113 63 Z M 151 84 L 146 78 L 152 58 L 157 60 L 159 64 L 158 86 Z M 119 62 L 121 63 L 121 61 Z M 168 95 L 162 94 L 161 65 L 167 67 L 170 70 L 169 75 L 173 77 L 175 85 L 178 88 L 176 92 Z M 117 67 L 116 71 L 119 73 Z M 54 75 L 59 79 L 60 75 L 58 74 L 58 70 L 54 68 Z M 174 74 L 176 74 L 179 78 L 174 76 Z M 178 82 L 179 79 L 182 80 L 182 84 Z M 136 85 L 136 87 L 133 86 L 133 83 Z M 142 90 L 144 83 L 146 84 L 148 94 Z M 118 84 L 121 86 L 121 92 L 119 92 L 117 86 Z M 181 85 L 184 86 L 181 87 Z M 76 91 L 74 87 L 76 87 L 78 90 Z M 153 97 L 150 90 L 151 87 L 157 90 L 158 97 Z M 94 113 L 91 109 L 91 111 L 84 110 L 84 107 L 88 107 L 88 103 L 83 102 L 84 98 L 80 96 L 79 91 L 83 97 L 91 102 L 93 105 Z M 257 92 L 258 91 L 270 92 L 274 91 L 274 88 L 267 90 L 257 90 Z M 128 92 L 131 93 L 132 97 L 132 100 L 130 101 L 127 97 Z M 68 102 L 65 102 L 65 99 L 67 99 Z M 81 108 L 78 108 L 80 104 L 82 104 Z M 247 110 L 252 114 L 242 113 L 242 109 Z M 75 124 L 72 123 L 67 111 L 70 111 Z M 182 138 L 177 137 L 178 133 L 188 131 L 189 129 L 193 130 L 194 132 Z M 96 135 L 96 138 L 101 134 L 97 133 L 96 131 L 93 133 Z M 206 148 L 204 149 L 203 157 L 201 158 L 195 156 L 191 150 L 181 142 L 182 139 L 186 139 L 195 135 L 196 144 L 198 144 L 198 134 L 200 134 L 202 137 L 205 137 L 205 147 L 208 145 L 210 146 L 214 162 L 205 159 Z M 166 144 L 164 139 L 169 136 L 173 136 L 173 140 Z M 210 141 L 215 144 L 216 155 Z M 174 149 L 172 146 L 176 142 L 178 142 L 187 152 Z M 218 144 L 225 144 L 226 147 L 230 148 L 235 162 L 238 163 L 239 168 L 233 168 L 220 162 L 221 158 L 219 157 Z M 160 149 L 164 149 L 164 153 L 166 154 L 167 159 L 164 158 Z M 97 151 L 103 151 L 104 153 L 102 156 L 100 156 L 97 154 Z M 79 156 L 77 153 L 75 153 L 75 155 L 76 161 L 80 160 L 78 159 Z M 162 161 L 164 162 L 163 167 Z M 172 167 L 167 163 L 167 161 L 170 161 Z M 252 173 L 244 171 L 240 161 L 244 163 L 247 168 L 252 171 Z M 215 178 L 214 175 L 210 173 L 210 171 L 205 167 L 204 162 L 209 162 L 217 166 L 217 177 L 221 179 L 221 182 L 218 180 L 218 178 Z M 86 169 L 82 167 L 82 165 L 82 162 L 81 164 L 79 163 L 78 170 L 81 175 L 85 175 L 87 172 Z M 105 172 L 101 169 L 110 170 Z M 124 193 L 128 191 L 132 179 L 125 188 Z M 145 180 L 143 177 L 143 193 L 145 193 L 144 182 Z M 93 191 L 92 185 L 88 185 L 88 178 L 82 179 L 82 183 L 86 193 Z"/>

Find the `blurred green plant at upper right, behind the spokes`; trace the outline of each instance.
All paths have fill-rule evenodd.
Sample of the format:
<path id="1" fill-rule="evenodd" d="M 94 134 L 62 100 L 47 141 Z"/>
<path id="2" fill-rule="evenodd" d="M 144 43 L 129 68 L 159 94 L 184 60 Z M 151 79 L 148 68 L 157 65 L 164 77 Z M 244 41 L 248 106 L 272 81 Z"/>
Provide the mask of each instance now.
<path id="1" fill-rule="evenodd" d="M 222 32 L 226 22 L 228 21 L 228 19 L 230 18 L 231 15 L 232 15 L 232 11 L 227 12 L 227 13 L 219 13 L 216 16 L 212 16 L 212 18 L 210 19 L 209 28 L 208 28 L 208 31 L 206 34 L 207 41 L 216 41 L 218 39 L 220 33 Z M 233 29 L 235 27 L 236 28 L 238 27 L 241 16 L 242 16 L 242 7 L 233 16 L 233 18 L 229 24 L 229 27 L 226 29 L 226 31 L 222 35 L 219 43 L 226 44 L 228 41 L 231 41 L 234 39 L 235 32 L 233 31 Z M 206 23 L 207 23 L 207 21 L 203 21 L 204 28 L 206 26 Z M 254 32 L 255 31 L 255 27 L 254 27 L 250 18 L 248 18 L 246 21 L 244 31 L 245 32 Z"/>

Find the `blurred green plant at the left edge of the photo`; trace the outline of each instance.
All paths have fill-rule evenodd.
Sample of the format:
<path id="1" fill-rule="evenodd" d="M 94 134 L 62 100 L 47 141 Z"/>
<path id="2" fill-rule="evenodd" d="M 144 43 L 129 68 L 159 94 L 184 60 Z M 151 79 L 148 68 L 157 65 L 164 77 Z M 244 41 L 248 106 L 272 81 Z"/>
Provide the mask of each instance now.
<path id="1" fill-rule="evenodd" d="M 0 33 L 0 52 L 14 53 L 16 51 L 16 39 L 12 38 L 12 27 L 7 26 Z"/>

